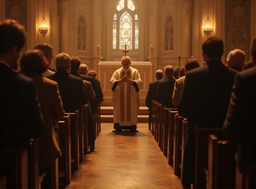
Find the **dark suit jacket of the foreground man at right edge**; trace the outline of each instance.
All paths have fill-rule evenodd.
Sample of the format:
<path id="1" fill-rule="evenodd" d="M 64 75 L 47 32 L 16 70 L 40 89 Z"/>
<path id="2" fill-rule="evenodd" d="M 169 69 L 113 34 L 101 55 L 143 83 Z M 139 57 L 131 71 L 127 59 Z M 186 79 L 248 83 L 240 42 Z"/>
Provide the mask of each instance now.
<path id="1" fill-rule="evenodd" d="M 256 67 L 236 74 L 223 130 L 237 145 L 236 161 L 241 172 L 248 162 L 256 162 Z"/>

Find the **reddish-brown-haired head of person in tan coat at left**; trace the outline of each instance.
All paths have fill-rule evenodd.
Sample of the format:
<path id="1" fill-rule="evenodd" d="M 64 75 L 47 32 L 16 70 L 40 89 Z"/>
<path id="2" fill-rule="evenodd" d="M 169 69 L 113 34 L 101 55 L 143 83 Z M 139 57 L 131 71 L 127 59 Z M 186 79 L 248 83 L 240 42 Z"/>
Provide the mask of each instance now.
<path id="1" fill-rule="evenodd" d="M 48 68 L 47 59 L 42 51 L 37 49 L 24 52 L 19 62 L 20 71 L 26 75 L 42 75 Z"/>

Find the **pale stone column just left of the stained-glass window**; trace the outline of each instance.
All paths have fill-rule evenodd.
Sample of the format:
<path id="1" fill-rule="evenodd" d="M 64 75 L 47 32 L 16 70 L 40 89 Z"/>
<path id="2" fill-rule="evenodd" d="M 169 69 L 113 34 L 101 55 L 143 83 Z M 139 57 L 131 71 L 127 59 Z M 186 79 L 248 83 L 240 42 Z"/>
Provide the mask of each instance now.
<path id="1" fill-rule="evenodd" d="M 97 56 L 97 47 L 102 46 L 102 0 L 94 0 L 92 2 L 93 15 L 92 15 L 92 26 L 93 26 L 93 34 L 92 34 L 92 59 L 93 65 L 92 69 L 98 72 L 98 56 Z"/>

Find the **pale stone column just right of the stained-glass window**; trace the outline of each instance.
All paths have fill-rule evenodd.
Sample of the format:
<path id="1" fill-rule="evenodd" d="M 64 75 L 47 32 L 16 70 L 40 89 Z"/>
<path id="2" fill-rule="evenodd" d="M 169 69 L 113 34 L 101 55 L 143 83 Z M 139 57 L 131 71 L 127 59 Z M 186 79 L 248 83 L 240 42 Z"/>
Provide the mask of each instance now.
<path id="1" fill-rule="evenodd" d="M 159 22 L 159 4 L 157 0 L 149 0 L 149 46 L 154 46 L 154 63 L 152 66 L 152 80 L 154 80 L 154 75 L 156 70 L 158 70 L 158 57 L 159 57 L 159 48 L 161 47 L 161 41 L 159 40 L 161 38 L 160 35 L 158 35 L 158 30 L 161 28 L 161 22 Z M 148 57 L 150 57 L 150 50 L 148 48 Z"/>

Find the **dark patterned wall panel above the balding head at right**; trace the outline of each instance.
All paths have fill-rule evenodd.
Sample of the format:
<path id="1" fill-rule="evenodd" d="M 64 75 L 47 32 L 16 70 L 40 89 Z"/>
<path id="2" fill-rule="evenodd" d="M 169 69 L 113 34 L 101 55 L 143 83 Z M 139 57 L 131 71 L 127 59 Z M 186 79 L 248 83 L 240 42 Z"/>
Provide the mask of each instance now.
<path id="1" fill-rule="evenodd" d="M 225 0 L 225 62 L 228 53 L 241 49 L 250 60 L 251 1 Z"/>

